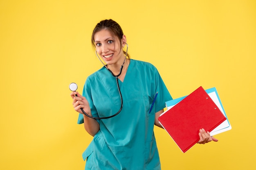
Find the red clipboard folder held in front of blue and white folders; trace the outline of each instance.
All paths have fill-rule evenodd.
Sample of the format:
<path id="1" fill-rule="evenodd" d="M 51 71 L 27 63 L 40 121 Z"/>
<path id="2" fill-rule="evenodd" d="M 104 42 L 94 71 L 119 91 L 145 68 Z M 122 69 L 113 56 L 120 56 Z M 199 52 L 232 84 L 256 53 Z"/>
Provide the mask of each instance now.
<path id="1" fill-rule="evenodd" d="M 226 118 L 207 92 L 199 87 L 158 120 L 185 153 L 199 141 L 199 129 L 210 132 Z"/>

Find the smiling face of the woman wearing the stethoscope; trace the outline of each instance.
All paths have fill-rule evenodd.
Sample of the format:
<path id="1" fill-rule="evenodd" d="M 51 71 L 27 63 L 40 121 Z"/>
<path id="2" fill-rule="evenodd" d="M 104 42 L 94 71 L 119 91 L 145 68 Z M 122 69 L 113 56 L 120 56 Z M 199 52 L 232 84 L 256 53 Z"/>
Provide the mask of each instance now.
<path id="1" fill-rule="evenodd" d="M 122 44 L 125 43 L 125 35 L 123 35 L 123 38 L 120 40 L 117 36 L 111 34 L 107 29 L 102 29 L 94 35 L 94 44 L 97 53 L 107 65 L 118 67 L 122 65 L 125 57 Z"/>

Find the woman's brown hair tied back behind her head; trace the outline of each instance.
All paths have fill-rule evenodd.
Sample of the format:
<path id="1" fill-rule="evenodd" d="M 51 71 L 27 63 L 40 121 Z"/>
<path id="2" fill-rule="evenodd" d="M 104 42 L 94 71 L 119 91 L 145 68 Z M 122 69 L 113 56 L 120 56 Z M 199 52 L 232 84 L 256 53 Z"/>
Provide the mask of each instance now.
<path id="1" fill-rule="evenodd" d="M 119 41 L 120 41 L 120 46 L 122 46 L 121 39 L 123 38 L 123 35 L 124 35 L 123 30 L 122 30 L 121 26 L 117 22 L 115 22 L 114 20 L 110 19 L 110 20 L 102 20 L 101 22 L 99 22 L 95 26 L 94 30 L 92 31 L 92 40 L 91 40 L 91 42 L 92 42 L 92 46 L 94 48 L 96 48 L 95 44 L 94 44 L 94 35 L 97 32 L 99 32 L 99 31 L 101 31 L 103 29 L 106 29 L 106 30 L 110 31 L 110 33 L 112 35 L 117 36 L 119 38 Z M 124 52 L 124 54 L 126 54 L 126 51 L 123 50 L 123 52 Z M 127 54 L 127 57 L 130 59 L 130 55 L 129 54 Z"/>

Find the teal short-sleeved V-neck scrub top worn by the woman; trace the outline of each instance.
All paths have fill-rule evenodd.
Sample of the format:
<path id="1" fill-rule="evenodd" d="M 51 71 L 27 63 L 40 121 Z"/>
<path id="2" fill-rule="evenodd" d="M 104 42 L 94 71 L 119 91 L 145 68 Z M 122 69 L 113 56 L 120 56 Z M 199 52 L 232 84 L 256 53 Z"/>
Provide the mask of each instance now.
<path id="1" fill-rule="evenodd" d="M 85 169 L 160 170 L 153 132 L 155 113 L 172 97 L 155 66 L 144 61 L 130 59 L 124 81 L 118 81 L 123 109 L 113 118 L 97 120 L 100 130 L 83 153 Z M 83 96 L 94 117 L 112 116 L 121 106 L 116 78 L 105 67 L 88 76 Z M 81 123 L 83 115 L 79 114 Z"/>

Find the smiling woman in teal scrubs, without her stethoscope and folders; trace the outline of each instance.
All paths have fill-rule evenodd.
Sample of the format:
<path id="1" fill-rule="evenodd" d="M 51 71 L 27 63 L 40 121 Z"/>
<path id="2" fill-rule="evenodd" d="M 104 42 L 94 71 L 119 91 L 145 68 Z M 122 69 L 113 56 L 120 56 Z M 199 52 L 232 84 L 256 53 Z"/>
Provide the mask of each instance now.
<path id="1" fill-rule="evenodd" d="M 84 123 L 85 130 L 94 136 L 83 153 L 85 169 L 160 170 L 153 128 L 154 124 L 162 127 L 157 118 L 165 102 L 172 99 L 161 76 L 152 64 L 130 59 L 123 50 L 128 48 L 126 36 L 113 20 L 96 25 L 92 44 L 106 65 L 88 76 L 82 96 L 71 93 L 74 109 L 81 113 L 78 123 Z M 108 119 L 89 118 L 81 112 L 82 108 L 90 116 L 108 117 L 121 105 L 120 113 Z M 203 129 L 199 136 L 200 144 L 217 141 Z"/>

